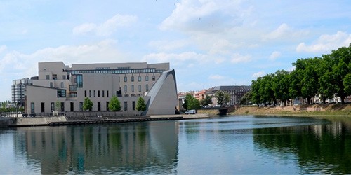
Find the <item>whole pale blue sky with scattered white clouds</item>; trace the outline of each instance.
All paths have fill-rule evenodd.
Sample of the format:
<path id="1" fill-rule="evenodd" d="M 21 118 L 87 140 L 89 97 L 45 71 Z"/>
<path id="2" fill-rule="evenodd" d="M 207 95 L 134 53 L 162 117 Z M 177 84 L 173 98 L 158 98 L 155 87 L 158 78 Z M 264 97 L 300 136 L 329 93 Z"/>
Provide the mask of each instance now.
<path id="1" fill-rule="evenodd" d="M 251 85 L 351 43 L 351 1 L 0 0 L 0 101 L 38 62 L 170 62 L 178 92 Z"/>

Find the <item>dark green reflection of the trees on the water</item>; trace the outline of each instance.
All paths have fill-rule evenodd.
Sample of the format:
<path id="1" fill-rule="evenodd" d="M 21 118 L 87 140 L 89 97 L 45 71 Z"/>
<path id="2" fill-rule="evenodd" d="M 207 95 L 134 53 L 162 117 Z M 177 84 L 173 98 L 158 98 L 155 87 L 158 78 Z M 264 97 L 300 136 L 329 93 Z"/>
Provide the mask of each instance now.
<path id="1" fill-rule="evenodd" d="M 350 121 L 253 130 L 256 150 L 294 155 L 302 174 L 350 174 Z M 284 158 L 285 160 L 287 158 Z"/>

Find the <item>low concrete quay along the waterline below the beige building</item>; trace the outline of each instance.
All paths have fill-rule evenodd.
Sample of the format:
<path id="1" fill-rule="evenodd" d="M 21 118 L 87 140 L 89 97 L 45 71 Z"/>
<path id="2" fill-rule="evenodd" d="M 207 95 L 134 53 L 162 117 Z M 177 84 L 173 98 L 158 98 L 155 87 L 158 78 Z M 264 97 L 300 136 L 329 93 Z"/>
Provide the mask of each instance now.
<path id="1" fill-rule="evenodd" d="M 50 116 L 35 118 L 6 118 L 0 120 L 0 127 L 28 127 L 41 125 L 81 125 L 93 123 L 128 123 L 128 122 L 145 122 L 155 120 L 185 120 L 197 118 L 210 118 L 208 114 L 198 113 L 192 115 L 159 115 L 159 116 L 139 116 L 131 118 L 79 118 L 67 120 L 66 116 Z"/>

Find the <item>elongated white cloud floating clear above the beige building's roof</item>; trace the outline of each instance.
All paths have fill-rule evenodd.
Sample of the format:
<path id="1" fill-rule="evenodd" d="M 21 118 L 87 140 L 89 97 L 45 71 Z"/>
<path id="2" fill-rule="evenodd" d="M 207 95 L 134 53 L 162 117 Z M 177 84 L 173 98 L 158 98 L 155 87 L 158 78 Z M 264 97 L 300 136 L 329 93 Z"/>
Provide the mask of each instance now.
<path id="1" fill-rule="evenodd" d="M 73 28 L 73 34 L 95 33 L 98 36 L 110 36 L 119 27 L 126 27 L 136 22 L 138 18 L 135 15 L 114 15 L 100 25 L 85 23 Z"/>

